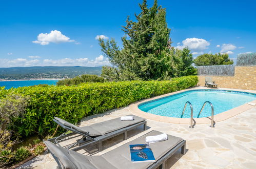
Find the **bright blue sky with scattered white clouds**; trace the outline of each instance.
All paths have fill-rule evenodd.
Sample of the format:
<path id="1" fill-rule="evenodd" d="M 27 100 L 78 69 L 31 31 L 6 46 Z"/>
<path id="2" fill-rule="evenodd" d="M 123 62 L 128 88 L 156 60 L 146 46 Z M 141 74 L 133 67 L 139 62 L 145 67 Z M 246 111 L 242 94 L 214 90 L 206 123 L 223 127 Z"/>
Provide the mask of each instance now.
<path id="1" fill-rule="evenodd" d="M 97 38 L 122 47 L 132 1 L 0 1 L 0 67 L 111 65 Z M 153 0 L 148 0 L 151 7 Z M 166 8 L 172 46 L 203 53 L 256 52 L 256 1 L 159 0 Z"/>

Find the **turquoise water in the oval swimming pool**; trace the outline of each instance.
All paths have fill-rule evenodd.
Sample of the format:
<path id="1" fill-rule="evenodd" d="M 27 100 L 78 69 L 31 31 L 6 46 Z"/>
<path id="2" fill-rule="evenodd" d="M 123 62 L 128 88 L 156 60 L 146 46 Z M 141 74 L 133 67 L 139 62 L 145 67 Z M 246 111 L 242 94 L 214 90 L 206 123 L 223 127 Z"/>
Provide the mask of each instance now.
<path id="1" fill-rule="evenodd" d="M 256 94 L 225 90 L 192 90 L 142 103 L 139 109 L 151 114 L 181 118 L 186 101 L 190 101 L 193 106 L 193 118 L 197 118 L 205 101 L 213 104 L 215 115 L 252 100 L 256 100 Z M 199 118 L 208 116 L 211 116 L 211 107 L 207 103 Z M 189 105 L 183 118 L 190 118 Z"/>

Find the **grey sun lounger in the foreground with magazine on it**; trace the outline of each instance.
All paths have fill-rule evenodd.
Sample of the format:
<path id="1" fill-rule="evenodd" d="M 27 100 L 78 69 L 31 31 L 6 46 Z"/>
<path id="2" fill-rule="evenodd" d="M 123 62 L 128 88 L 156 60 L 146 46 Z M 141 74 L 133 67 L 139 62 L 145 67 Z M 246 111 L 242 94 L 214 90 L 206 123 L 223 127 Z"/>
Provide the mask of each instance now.
<path id="1" fill-rule="evenodd" d="M 101 156 L 85 156 L 49 141 L 44 143 L 60 168 L 164 168 L 165 161 L 176 151 L 181 149 L 181 153 L 185 154 L 185 140 L 168 135 L 168 140 L 150 144 L 156 162 L 132 163 L 130 156 L 130 144 L 145 144 L 147 136 L 159 134 L 162 133 L 151 131 Z"/>

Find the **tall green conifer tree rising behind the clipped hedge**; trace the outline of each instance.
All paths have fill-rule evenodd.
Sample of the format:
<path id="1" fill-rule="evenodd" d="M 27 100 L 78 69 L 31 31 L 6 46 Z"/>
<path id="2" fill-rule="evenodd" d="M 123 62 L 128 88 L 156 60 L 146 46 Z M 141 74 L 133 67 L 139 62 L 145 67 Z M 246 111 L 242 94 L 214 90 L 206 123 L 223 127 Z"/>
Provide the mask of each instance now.
<path id="1" fill-rule="evenodd" d="M 174 67 L 170 54 L 170 29 L 166 23 L 166 10 L 154 4 L 147 7 L 147 1 L 139 4 L 141 13 L 136 22 L 127 17 L 123 26 L 123 48 L 120 49 L 114 39 L 99 39 L 102 51 L 114 68 L 103 68 L 102 76 L 115 72 L 116 80 L 151 80 L 173 77 Z M 113 70 L 114 69 L 114 70 Z"/>

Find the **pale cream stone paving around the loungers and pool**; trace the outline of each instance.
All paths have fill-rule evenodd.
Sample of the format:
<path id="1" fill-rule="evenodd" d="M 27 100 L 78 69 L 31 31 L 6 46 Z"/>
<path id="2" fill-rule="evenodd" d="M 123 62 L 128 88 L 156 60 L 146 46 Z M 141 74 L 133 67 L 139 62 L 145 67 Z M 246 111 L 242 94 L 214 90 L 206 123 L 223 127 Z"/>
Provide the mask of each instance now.
<path id="1" fill-rule="evenodd" d="M 84 118 L 81 126 L 132 114 L 128 107 L 108 111 L 104 114 Z M 101 155 L 121 146 L 151 130 L 161 131 L 186 140 L 187 152 L 176 152 L 167 160 L 166 168 L 256 168 L 256 106 L 231 117 L 216 122 L 215 128 L 209 124 L 196 124 L 194 129 L 189 124 L 173 124 L 147 120 L 148 129 L 142 127 L 128 132 L 128 139 L 116 136 L 103 142 Z M 80 152 L 87 154 L 85 152 Z M 44 153 L 23 164 L 19 168 L 56 168 L 57 164 L 50 154 Z"/>

